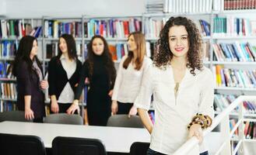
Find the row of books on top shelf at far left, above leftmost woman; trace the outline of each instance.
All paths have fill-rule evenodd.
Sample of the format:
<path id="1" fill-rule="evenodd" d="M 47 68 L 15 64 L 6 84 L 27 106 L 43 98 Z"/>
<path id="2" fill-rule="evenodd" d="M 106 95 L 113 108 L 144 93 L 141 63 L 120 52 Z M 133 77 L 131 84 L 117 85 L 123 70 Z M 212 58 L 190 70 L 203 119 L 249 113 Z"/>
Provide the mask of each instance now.
<path id="1" fill-rule="evenodd" d="M 23 36 L 35 36 L 36 38 L 41 36 L 42 26 L 31 26 L 30 23 L 24 22 L 24 20 L 10 19 L 0 20 L 0 38 L 22 38 Z"/>

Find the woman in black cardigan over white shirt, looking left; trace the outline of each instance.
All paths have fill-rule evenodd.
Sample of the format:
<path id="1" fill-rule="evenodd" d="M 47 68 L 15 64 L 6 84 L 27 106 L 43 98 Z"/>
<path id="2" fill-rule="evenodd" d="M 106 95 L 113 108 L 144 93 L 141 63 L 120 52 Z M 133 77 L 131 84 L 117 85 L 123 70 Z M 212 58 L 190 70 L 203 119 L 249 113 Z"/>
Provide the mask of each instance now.
<path id="1" fill-rule="evenodd" d="M 72 104 L 81 67 L 73 36 L 61 35 L 58 40 L 58 56 L 51 58 L 48 67 L 51 112 L 65 113 Z"/>

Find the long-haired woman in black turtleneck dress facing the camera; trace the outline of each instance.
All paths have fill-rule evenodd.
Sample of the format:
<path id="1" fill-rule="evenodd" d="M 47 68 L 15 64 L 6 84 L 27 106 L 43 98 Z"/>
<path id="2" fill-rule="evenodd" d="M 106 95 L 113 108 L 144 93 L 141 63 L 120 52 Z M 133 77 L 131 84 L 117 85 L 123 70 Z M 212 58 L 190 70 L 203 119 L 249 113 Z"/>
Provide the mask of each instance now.
<path id="1" fill-rule="evenodd" d="M 111 115 L 111 95 L 114 88 L 116 70 L 110 55 L 107 41 L 102 36 L 93 36 L 88 46 L 88 58 L 82 65 L 79 85 L 75 91 L 75 100 L 68 113 L 79 108 L 79 97 L 89 78 L 89 91 L 87 95 L 87 115 L 89 125 L 106 126 Z"/>

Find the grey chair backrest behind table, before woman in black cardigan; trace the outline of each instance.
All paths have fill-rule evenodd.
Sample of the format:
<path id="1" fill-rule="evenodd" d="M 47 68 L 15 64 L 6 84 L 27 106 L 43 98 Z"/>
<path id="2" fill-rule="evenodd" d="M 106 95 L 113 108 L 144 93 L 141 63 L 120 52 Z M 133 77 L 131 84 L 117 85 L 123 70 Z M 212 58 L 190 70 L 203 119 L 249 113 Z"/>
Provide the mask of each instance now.
<path id="1" fill-rule="evenodd" d="M 80 115 L 68 115 L 66 113 L 47 115 L 44 117 L 44 122 L 55 124 L 83 124 L 83 120 Z"/>

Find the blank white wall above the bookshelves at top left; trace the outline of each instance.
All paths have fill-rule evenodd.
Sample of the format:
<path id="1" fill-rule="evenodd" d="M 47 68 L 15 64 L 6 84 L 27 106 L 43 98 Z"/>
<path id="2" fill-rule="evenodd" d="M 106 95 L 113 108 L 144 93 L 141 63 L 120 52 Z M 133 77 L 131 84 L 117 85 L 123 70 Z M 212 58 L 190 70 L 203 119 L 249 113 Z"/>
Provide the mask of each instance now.
<path id="1" fill-rule="evenodd" d="M 0 0 L 1 2 L 2 0 Z M 145 0 L 5 0 L 9 18 L 141 15 Z M 1 8 L 0 8 L 1 9 Z"/>

